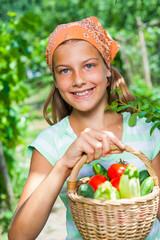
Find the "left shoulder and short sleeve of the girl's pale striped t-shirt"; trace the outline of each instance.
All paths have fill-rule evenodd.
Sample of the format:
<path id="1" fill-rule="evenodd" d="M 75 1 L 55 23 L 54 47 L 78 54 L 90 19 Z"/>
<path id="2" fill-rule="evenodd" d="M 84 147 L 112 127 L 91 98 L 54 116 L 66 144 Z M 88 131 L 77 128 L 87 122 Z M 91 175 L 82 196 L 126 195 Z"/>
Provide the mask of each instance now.
<path id="1" fill-rule="evenodd" d="M 69 124 L 68 117 L 43 130 L 28 146 L 28 153 L 32 157 L 33 149 L 37 149 L 49 162 L 54 165 L 64 154 L 76 135 Z"/>

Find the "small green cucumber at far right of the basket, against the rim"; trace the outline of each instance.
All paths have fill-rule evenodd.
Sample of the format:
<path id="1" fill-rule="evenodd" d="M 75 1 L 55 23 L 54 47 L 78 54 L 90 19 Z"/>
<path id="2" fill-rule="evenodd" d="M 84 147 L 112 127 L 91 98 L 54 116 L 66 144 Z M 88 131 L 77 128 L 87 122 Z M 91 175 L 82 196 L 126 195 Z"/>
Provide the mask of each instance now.
<path id="1" fill-rule="evenodd" d="M 152 192 L 153 190 L 153 187 L 154 187 L 154 180 L 152 177 L 148 177 L 146 178 L 142 184 L 141 184 L 141 187 L 140 187 L 140 195 L 141 196 L 145 196 L 149 193 Z"/>

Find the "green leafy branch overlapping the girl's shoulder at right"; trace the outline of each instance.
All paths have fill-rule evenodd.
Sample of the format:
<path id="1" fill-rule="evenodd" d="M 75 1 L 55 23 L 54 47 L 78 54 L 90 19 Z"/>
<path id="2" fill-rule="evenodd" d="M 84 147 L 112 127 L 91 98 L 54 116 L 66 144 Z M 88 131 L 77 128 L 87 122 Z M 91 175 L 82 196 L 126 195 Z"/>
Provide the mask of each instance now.
<path id="1" fill-rule="evenodd" d="M 146 123 L 153 122 L 153 126 L 150 129 L 150 134 L 152 134 L 156 127 L 160 128 L 160 98 L 158 98 L 160 87 L 148 88 L 143 80 L 136 80 L 136 82 L 138 85 L 131 87 L 131 91 L 136 96 L 133 102 L 126 104 L 119 98 L 106 107 L 105 111 L 112 109 L 114 112 L 123 112 L 130 108 L 133 113 L 128 121 L 129 126 L 134 127 L 136 125 L 137 117 L 145 117 Z M 116 92 L 119 97 L 122 94 L 119 88 L 111 91 L 111 94 L 113 92 Z"/>

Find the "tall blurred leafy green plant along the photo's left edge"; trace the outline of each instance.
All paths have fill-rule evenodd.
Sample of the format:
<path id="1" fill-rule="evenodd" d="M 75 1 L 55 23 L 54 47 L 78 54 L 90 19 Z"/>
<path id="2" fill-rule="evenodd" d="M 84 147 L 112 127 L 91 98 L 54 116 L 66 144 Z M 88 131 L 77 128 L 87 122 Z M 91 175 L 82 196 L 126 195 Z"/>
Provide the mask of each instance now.
<path id="1" fill-rule="evenodd" d="M 14 12 L 9 12 L 8 15 L 10 21 L 0 25 L 0 141 L 13 179 L 14 151 L 18 144 L 23 143 L 28 118 L 28 107 L 23 107 L 20 103 L 28 94 L 26 69 L 32 69 L 35 49 L 31 44 L 36 39 L 41 20 L 30 12 L 22 16 Z M 0 175 L 0 204 L 6 201 L 6 191 Z"/>

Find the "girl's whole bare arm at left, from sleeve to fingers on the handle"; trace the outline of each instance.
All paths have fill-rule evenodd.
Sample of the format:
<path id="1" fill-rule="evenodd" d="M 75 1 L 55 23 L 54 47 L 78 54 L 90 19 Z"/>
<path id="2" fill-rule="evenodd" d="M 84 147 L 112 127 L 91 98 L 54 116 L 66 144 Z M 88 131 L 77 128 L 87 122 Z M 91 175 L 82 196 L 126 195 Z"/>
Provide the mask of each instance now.
<path id="1" fill-rule="evenodd" d="M 9 229 L 9 240 L 35 239 L 44 227 L 65 180 L 82 154 L 87 154 L 88 163 L 99 159 L 110 152 L 111 142 L 124 148 L 112 133 L 86 129 L 54 167 L 34 150 L 29 176 Z"/>

